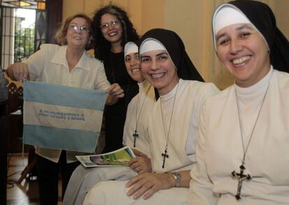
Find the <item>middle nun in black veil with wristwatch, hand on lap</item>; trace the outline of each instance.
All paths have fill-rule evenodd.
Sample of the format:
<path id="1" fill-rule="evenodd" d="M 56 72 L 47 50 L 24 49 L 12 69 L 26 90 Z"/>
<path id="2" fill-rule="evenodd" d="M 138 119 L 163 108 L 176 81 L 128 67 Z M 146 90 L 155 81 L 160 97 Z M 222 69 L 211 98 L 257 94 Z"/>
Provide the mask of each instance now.
<path id="1" fill-rule="evenodd" d="M 202 103 L 218 92 L 188 58 L 177 33 L 152 29 L 140 40 L 144 77 L 158 100 L 151 108 L 148 133 L 153 173 L 129 181 L 98 183 L 84 204 L 188 204 L 190 169 Z"/>

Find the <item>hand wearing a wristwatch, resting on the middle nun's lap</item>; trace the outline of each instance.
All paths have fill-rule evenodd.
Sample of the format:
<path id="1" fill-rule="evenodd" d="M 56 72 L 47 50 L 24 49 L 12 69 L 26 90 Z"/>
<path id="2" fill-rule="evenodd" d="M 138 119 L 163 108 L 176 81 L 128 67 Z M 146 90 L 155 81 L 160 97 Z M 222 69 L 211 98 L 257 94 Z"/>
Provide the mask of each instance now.
<path id="1" fill-rule="evenodd" d="M 133 195 L 133 199 L 138 199 L 144 195 L 144 199 L 148 199 L 158 190 L 165 190 L 174 187 L 175 179 L 170 173 L 156 174 L 144 173 L 133 177 L 128 183 L 126 188 L 130 188 L 126 193 L 128 196 Z"/>

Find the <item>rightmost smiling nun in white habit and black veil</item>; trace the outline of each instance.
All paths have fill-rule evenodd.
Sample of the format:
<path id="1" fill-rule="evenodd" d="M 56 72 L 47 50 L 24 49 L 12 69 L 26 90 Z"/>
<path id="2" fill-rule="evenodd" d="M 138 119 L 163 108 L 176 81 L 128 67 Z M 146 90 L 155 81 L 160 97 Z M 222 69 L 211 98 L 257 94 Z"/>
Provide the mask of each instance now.
<path id="1" fill-rule="evenodd" d="M 222 4 L 212 27 L 235 84 L 202 109 L 190 204 L 289 204 L 288 40 L 258 1 Z"/>

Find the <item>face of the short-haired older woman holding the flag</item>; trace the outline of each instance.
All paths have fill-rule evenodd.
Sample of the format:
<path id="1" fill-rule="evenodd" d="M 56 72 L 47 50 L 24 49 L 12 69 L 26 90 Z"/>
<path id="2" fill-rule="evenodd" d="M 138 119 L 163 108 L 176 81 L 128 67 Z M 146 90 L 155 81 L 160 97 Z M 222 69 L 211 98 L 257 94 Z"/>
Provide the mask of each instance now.
<path id="1" fill-rule="evenodd" d="M 82 27 L 81 29 L 73 29 L 73 26 L 77 26 L 78 28 Z M 87 28 L 88 30 L 85 31 Z M 87 46 L 91 35 L 89 33 L 89 24 L 87 20 L 82 17 L 75 17 L 71 20 L 70 24 L 68 25 L 68 30 L 66 33 L 67 39 L 67 46 L 68 47 L 75 47 L 77 49 L 83 49 Z"/>

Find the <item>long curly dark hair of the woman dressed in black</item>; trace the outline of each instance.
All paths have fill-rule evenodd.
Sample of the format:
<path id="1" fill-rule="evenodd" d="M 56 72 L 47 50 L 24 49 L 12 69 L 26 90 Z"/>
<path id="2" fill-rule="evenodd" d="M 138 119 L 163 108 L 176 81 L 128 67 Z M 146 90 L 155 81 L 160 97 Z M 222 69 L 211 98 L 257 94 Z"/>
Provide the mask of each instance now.
<path id="1" fill-rule="evenodd" d="M 122 26 L 122 40 L 121 47 L 124 47 L 128 41 L 135 41 L 139 39 L 137 31 L 133 28 L 133 23 L 128 19 L 128 15 L 126 11 L 119 8 L 119 6 L 115 6 L 109 4 L 108 6 L 104 6 L 99 10 L 96 10 L 94 17 L 92 18 L 92 36 L 94 37 L 94 55 L 97 59 L 103 61 L 104 57 L 108 52 L 110 52 L 110 42 L 103 37 L 103 33 L 101 32 L 101 17 L 109 13 L 110 15 L 114 15 L 121 22 Z"/>

